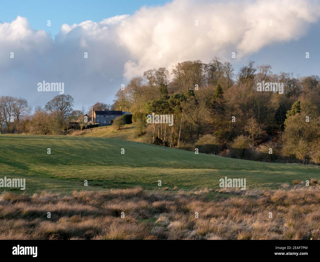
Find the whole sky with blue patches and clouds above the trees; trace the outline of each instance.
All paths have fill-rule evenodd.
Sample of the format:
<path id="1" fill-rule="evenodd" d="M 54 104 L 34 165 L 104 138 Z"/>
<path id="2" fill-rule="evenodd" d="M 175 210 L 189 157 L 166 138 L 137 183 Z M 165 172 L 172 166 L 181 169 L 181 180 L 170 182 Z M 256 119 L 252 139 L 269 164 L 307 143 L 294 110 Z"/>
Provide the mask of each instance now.
<path id="1" fill-rule="evenodd" d="M 0 95 L 44 106 L 59 93 L 37 84 L 60 82 L 88 108 L 148 69 L 214 56 L 320 75 L 319 40 L 313 0 L 2 1 Z"/>

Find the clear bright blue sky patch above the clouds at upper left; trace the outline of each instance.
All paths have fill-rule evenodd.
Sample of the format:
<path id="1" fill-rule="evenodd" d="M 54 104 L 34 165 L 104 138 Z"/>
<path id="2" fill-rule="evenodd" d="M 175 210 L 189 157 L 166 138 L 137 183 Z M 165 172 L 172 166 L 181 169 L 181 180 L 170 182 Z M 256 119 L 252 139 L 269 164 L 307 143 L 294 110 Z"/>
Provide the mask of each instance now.
<path id="1" fill-rule="evenodd" d="M 53 37 L 59 33 L 62 24 L 78 24 L 86 20 L 101 21 L 119 14 L 133 14 L 143 5 L 153 6 L 170 1 L 121 0 L 121 1 L 1 1 L 0 21 L 12 22 L 18 15 L 27 17 L 32 28 L 44 30 Z M 51 27 L 47 26 L 51 20 Z"/>

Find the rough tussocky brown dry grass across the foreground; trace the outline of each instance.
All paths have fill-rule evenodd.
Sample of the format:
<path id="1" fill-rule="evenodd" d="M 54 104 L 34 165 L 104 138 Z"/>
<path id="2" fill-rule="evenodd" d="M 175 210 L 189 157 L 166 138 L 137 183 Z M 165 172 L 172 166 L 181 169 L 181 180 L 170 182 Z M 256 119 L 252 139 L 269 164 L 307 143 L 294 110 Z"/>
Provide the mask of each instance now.
<path id="1" fill-rule="evenodd" d="M 312 185 L 216 192 L 137 187 L 66 196 L 5 192 L 0 196 L 0 239 L 316 240 L 320 187 L 317 181 Z M 209 200 L 213 194 L 217 200 Z"/>

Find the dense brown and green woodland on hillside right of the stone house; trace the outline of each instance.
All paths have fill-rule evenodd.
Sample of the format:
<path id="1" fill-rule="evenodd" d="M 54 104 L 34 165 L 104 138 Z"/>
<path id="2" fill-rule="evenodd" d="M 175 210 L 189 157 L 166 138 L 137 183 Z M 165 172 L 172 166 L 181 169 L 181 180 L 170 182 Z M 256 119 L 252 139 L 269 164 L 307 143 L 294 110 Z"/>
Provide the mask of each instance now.
<path id="1" fill-rule="evenodd" d="M 262 81 L 284 83 L 284 93 L 257 91 Z M 317 75 L 275 74 L 253 61 L 236 73 L 215 57 L 207 64 L 178 63 L 171 72 L 145 71 L 117 91 L 113 108 L 131 111 L 138 126 L 148 114 L 174 115 L 173 126 L 145 126 L 149 143 L 253 160 L 319 162 L 319 83 Z"/>

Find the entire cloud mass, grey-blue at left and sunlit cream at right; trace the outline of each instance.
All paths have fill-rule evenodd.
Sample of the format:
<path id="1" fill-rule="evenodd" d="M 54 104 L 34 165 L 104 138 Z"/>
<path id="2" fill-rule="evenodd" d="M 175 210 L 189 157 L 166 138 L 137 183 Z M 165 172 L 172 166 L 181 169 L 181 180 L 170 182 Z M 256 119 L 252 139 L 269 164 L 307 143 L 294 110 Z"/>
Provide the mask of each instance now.
<path id="1" fill-rule="evenodd" d="M 122 83 L 145 70 L 184 60 L 208 62 L 215 55 L 231 60 L 231 52 L 245 58 L 269 44 L 299 39 L 319 15 L 317 1 L 174 0 L 132 16 L 63 24 L 54 40 L 18 16 L 0 23 L 1 93 L 45 104 L 53 94 L 36 91 L 36 83 L 45 80 L 64 82 L 65 93 L 80 104 L 111 102 Z"/>

